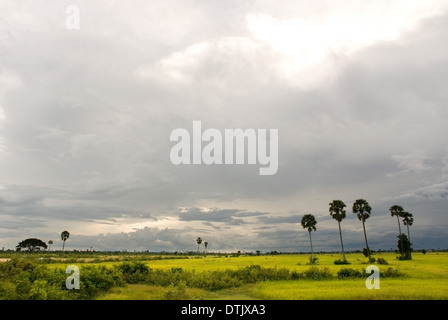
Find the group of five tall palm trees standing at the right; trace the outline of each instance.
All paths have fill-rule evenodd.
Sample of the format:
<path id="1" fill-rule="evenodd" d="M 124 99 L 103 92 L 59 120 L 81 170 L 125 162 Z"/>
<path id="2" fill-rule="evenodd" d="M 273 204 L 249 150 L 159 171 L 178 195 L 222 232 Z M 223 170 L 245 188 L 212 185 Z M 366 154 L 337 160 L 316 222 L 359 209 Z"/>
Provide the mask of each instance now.
<path id="1" fill-rule="evenodd" d="M 330 211 L 331 217 L 338 222 L 339 238 L 341 240 L 341 247 L 342 247 L 342 257 L 343 257 L 343 261 L 346 261 L 345 251 L 344 251 L 344 242 L 342 241 L 342 231 L 341 231 L 341 222 L 346 217 L 346 212 L 345 212 L 346 205 L 342 200 L 333 200 L 332 202 L 330 202 L 329 206 L 330 206 L 329 211 Z M 370 261 L 371 260 L 371 256 L 370 256 L 371 252 L 369 249 L 369 244 L 367 242 L 367 233 L 366 233 L 365 222 L 370 217 L 370 214 L 372 212 L 372 207 L 369 205 L 369 203 L 366 200 L 357 199 L 353 203 L 352 211 L 353 211 L 353 213 L 355 213 L 357 215 L 358 219 L 362 222 L 362 227 L 364 230 L 364 240 L 366 242 L 367 256 Z M 400 226 L 400 220 L 399 220 L 400 218 L 403 218 L 403 223 L 407 227 L 408 239 L 410 241 L 409 226 L 412 226 L 412 224 L 414 222 L 412 213 L 404 211 L 403 207 L 401 207 L 399 205 L 393 205 L 392 207 L 390 207 L 389 211 L 390 211 L 392 217 L 394 217 L 394 216 L 397 217 L 398 230 L 399 230 L 398 238 L 400 239 L 399 241 L 402 241 L 402 239 L 403 239 L 403 234 L 401 233 L 401 226 Z M 316 231 L 316 225 L 317 225 L 316 218 L 312 214 L 305 214 L 302 217 L 301 224 L 304 229 L 308 230 L 309 237 L 310 237 L 311 259 L 314 261 L 314 252 L 313 252 L 313 242 L 311 239 L 311 231 Z M 400 247 L 400 253 L 403 256 L 404 255 L 403 244 L 401 244 L 399 247 Z"/>

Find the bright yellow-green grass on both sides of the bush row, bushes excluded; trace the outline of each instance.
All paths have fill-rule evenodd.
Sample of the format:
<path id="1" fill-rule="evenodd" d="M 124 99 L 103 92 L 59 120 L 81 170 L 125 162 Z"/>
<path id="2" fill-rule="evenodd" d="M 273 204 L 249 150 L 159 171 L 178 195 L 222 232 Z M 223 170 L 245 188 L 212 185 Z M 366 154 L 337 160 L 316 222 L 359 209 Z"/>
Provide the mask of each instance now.
<path id="1" fill-rule="evenodd" d="M 298 273 L 305 272 L 310 268 L 308 255 L 261 255 L 261 256 L 148 256 L 131 255 L 114 256 L 102 255 L 94 257 L 82 257 L 75 254 L 64 256 L 54 254 L 54 259 L 39 259 L 38 255 L 32 255 L 33 259 L 45 264 L 48 268 L 65 269 L 70 264 L 82 266 L 102 265 L 112 267 L 122 263 L 123 260 L 141 261 L 153 270 L 171 270 L 182 268 L 182 270 L 215 271 L 226 269 L 238 269 L 251 265 L 260 265 L 265 268 L 287 268 Z M 206 290 L 193 287 L 182 289 L 173 286 L 156 286 L 149 284 L 128 284 L 125 287 L 114 287 L 107 293 L 98 296 L 100 300 L 161 300 L 167 297 L 178 297 L 179 299 L 225 299 L 225 300 L 416 300 L 416 299 L 448 299 L 448 253 L 413 253 L 412 260 L 398 260 L 397 254 L 385 252 L 375 254 L 373 257 L 384 258 L 388 265 L 368 263 L 362 254 L 346 254 L 349 265 L 335 265 L 334 261 L 341 258 L 339 254 L 318 254 L 317 267 L 328 268 L 333 275 L 331 279 L 325 280 L 278 280 L 261 281 L 251 284 L 243 284 L 238 287 L 222 290 Z M 61 258 L 62 257 L 62 258 Z M 66 257 L 64 259 L 64 257 Z M 342 268 L 359 270 L 362 274 L 368 265 L 377 265 L 381 272 L 391 267 L 406 274 L 399 278 L 380 278 L 380 289 L 367 289 L 365 278 L 338 279 L 337 272 Z M 366 275 L 367 277 L 367 275 Z"/>

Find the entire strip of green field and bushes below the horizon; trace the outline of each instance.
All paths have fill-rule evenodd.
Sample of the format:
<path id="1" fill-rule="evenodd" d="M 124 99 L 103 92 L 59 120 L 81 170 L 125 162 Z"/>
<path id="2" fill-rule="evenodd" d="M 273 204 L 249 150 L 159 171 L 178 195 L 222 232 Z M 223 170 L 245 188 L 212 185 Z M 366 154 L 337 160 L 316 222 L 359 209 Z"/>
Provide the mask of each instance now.
<path id="1" fill-rule="evenodd" d="M 448 289 L 448 281 L 441 281 L 447 279 L 447 253 L 418 253 L 412 265 L 393 259 L 389 265 L 380 267 L 382 290 L 375 290 L 378 292 L 374 295 L 365 287 L 364 280 L 368 275 L 362 255 L 346 254 L 352 261 L 350 267 L 335 265 L 332 254 L 321 254 L 317 267 L 306 265 L 309 258 L 306 254 L 185 257 L 97 253 L 95 259 L 84 258 L 83 262 L 76 262 L 80 268 L 80 289 L 68 290 L 65 268 L 82 254 L 11 252 L 11 260 L 0 263 L 0 298 L 345 299 L 346 294 L 357 299 L 418 299 L 422 294 L 425 299 L 447 298 L 443 292 Z M 379 255 L 378 262 L 394 256 L 393 252 L 376 254 Z M 85 255 L 95 256 L 92 253 Z M 412 289 L 409 296 L 414 285 L 423 289 Z M 353 296 L 354 292 L 358 296 Z"/>

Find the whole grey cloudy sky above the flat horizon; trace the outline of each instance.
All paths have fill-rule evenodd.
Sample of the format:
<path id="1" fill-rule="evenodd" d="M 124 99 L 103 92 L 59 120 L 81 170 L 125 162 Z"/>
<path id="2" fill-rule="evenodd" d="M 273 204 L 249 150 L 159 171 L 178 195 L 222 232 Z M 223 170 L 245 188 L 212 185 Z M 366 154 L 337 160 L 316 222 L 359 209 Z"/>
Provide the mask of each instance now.
<path id="1" fill-rule="evenodd" d="M 68 28 L 79 9 L 79 29 Z M 68 25 L 67 25 L 68 20 Z M 0 0 L 0 248 L 448 247 L 448 1 Z M 174 165 L 170 133 L 278 129 L 278 172 Z"/>

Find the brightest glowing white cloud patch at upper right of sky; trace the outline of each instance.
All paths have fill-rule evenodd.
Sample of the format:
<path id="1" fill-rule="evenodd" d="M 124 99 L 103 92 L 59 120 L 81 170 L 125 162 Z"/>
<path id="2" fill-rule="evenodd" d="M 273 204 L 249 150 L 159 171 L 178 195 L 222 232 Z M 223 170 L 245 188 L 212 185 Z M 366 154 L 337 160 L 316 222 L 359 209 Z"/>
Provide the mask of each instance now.
<path id="1" fill-rule="evenodd" d="M 299 18 L 249 13 L 256 39 L 282 53 L 283 77 L 299 87 L 331 79 L 337 67 L 356 52 L 382 41 L 396 41 L 427 17 L 448 9 L 443 1 L 328 2 Z"/>

